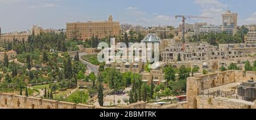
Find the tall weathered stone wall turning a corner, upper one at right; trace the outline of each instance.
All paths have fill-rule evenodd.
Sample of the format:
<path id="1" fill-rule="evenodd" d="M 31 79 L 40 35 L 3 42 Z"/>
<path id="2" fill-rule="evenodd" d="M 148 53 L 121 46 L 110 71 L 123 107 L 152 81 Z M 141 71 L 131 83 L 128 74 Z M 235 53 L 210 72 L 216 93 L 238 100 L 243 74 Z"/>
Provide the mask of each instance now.
<path id="1" fill-rule="evenodd" d="M 196 96 L 204 89 L 219 87 L 230 83 L 245 81 L 245 74 L 240 70 L 230 70 L 207 75 L 199 75 L 187 78 L 187 101 L 189 108 L 197 108 Z"/>

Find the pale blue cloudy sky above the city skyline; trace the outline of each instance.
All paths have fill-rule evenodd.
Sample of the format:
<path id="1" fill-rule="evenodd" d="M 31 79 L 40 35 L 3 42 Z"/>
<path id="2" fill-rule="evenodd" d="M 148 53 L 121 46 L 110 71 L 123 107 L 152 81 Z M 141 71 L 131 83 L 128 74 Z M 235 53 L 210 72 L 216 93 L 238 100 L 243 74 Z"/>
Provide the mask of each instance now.
<path id="1" fill-rule="evenodd" d="M 256 0 L 0 0 L 2 33 L 27 31 L 33 24 L 43 28 L 65 28 L 67 22 L 108 20 L 121 24 L 174 25 L 175 15 L 210 16 L 187 23 L 220 25 L 226 10 L 238 13 L 238 25 L 256 24 Z"/>

